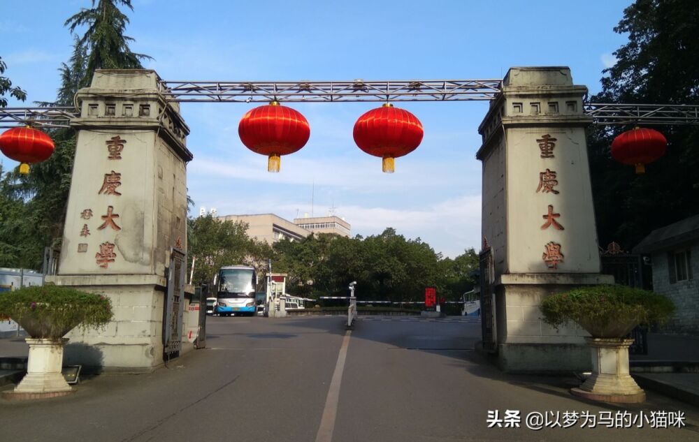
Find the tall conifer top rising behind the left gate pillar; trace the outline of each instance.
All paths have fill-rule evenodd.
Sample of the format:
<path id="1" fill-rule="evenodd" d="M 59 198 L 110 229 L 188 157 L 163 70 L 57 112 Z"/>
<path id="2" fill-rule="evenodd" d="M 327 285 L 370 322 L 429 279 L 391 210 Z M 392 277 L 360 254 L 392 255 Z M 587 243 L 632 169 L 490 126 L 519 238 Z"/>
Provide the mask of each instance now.
<path id="1" fill-rule="evenodd" d="M 77 40 L 78 45 L 87 53 L 87 75 L 80 81 L 81 87 L 89 85 L 95 69 L 143 68 L 140 62 L 152 59 L 131 51 L 129 43 L 134 38 L 124 35 L 129 17 L 122 13 L 117 4 L 134 10 L 131 0 L 92 0 L 92 8 L 82 8 L 66 20 L 65 25 L 71 32 L 78 27 L 87 27 L 85 34 Z"/>

